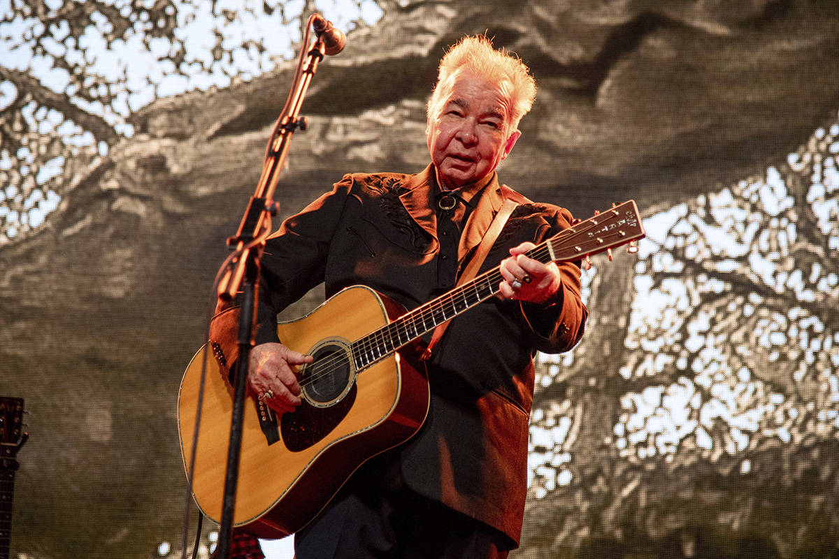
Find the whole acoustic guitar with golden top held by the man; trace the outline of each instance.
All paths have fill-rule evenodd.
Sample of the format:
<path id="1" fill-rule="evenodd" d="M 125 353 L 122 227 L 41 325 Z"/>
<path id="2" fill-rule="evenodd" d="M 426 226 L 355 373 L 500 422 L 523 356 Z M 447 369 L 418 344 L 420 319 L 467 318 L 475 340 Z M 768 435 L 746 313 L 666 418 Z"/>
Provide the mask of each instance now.
<path id="1" fill-rule="evenodd" d="M 561 231 L 527 256 L 580 261 L 644 237 L 633 200 Z M 611 254 L 610 254 L 611 257 Z M 279 323 L 279 339 L 313 355 L 299 368 L 303 403 L 277 417 L 252 393 L 245 406 L 233 523 L 279 538 L 305 526 L 367 459 L 404 443 L 425 421 L 429 386 L 420 336 L 492 298 L 500 267 L 405 312 L 369 287 L 347 287 L 303 318 Z M 216 522 L 232 416 L 229 371 L 237 359 L 237 309 L 213 319 L 211 339 L 187 366 L 178 396 L 181 454 L 195 503 Z M 206 364 L 195 471 L 190 471 L 202 363 Z"/>

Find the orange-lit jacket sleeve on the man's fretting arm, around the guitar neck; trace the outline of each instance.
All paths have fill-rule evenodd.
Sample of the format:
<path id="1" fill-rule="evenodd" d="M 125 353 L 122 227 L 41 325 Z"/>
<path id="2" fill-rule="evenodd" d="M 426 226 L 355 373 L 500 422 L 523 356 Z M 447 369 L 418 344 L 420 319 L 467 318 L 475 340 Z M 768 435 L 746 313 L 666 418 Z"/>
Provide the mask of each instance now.
<path id="1" fill-rule="evenodd" d="M 571 226 L 571 212 L 559 208 L 552 216 L 553 226 L 545 241 Z M 586 328 L 588 309 L 582 303 L 580 262 L 558 262 L 562 285 L 554 298 L 546 303 L 520 303 L 522 317 L 536 349 L 545 353 L 562 353 L 573 348 Z"/>

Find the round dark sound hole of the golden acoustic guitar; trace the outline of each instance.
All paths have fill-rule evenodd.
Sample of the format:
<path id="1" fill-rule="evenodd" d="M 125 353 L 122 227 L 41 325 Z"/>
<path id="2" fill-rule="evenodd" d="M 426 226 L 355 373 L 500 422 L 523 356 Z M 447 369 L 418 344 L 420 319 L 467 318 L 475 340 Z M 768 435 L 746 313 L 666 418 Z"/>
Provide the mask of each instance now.
<path id="1" fill-rule="evenodd" d="M 306 366 L 303 392 L 315 406 L 328 406 L 344 396 L 352 385 L 352 365 L 347 350 L 329 344 L 317 349 L 314 361 Z"/>

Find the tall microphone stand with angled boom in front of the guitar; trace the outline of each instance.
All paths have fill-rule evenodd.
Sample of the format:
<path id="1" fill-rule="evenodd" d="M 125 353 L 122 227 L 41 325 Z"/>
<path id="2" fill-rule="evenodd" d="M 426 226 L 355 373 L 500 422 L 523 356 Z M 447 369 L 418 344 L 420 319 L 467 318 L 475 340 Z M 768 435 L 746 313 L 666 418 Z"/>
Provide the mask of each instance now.
<path id="1" fill-rule="evenodd" d="M 311 24 L 317 14 L 309 18 L 303 44 L 309 43 Z M 302 53 L 301 53 L 302 54 Z M 300 63 L 294 74 L 292 91 L 289 92 L 283 113 L 279 116 L 268 148 L 265 153 L 263 172 L 257 189 L 251 196 L 245 215 L 239 225 L 236 236 L 227 239 L 228 246 L 236 246 L 238 256 L 232 261 L 218 286 L 218 297 L 225 302 L 232 301 L 241 290 L 238 324 L 239 358 L 234 380 L 233 409 L 230 427 L 230 446 L 227 451 L 227 474 L 225 477 L 224 497 L 221 504 L 221 527 L 216 545 L 217 559 L 228 559 L 233 531 L 233 509 L 236 501 L 239 457 L 242 451 L 242 422 L 246 383 L 248 381 L 248 358 L 254 344 L 256 326 L 256 308 L 260 258 L 265 246 L 265 233 L 271 228 L 271 216 L 277 215 L 279 204 L 274 202 L 279 172 L 283 168 L 289 141 L 294 131 L 306 129 L 306 119 L 299 117 L 300 106 L 309 88 L 317 65 L 323 60 L 325 46 L 320 34 L 309 49 L 305 60 Z M 301 70 L 302 68 L 302 70 Z"/>

